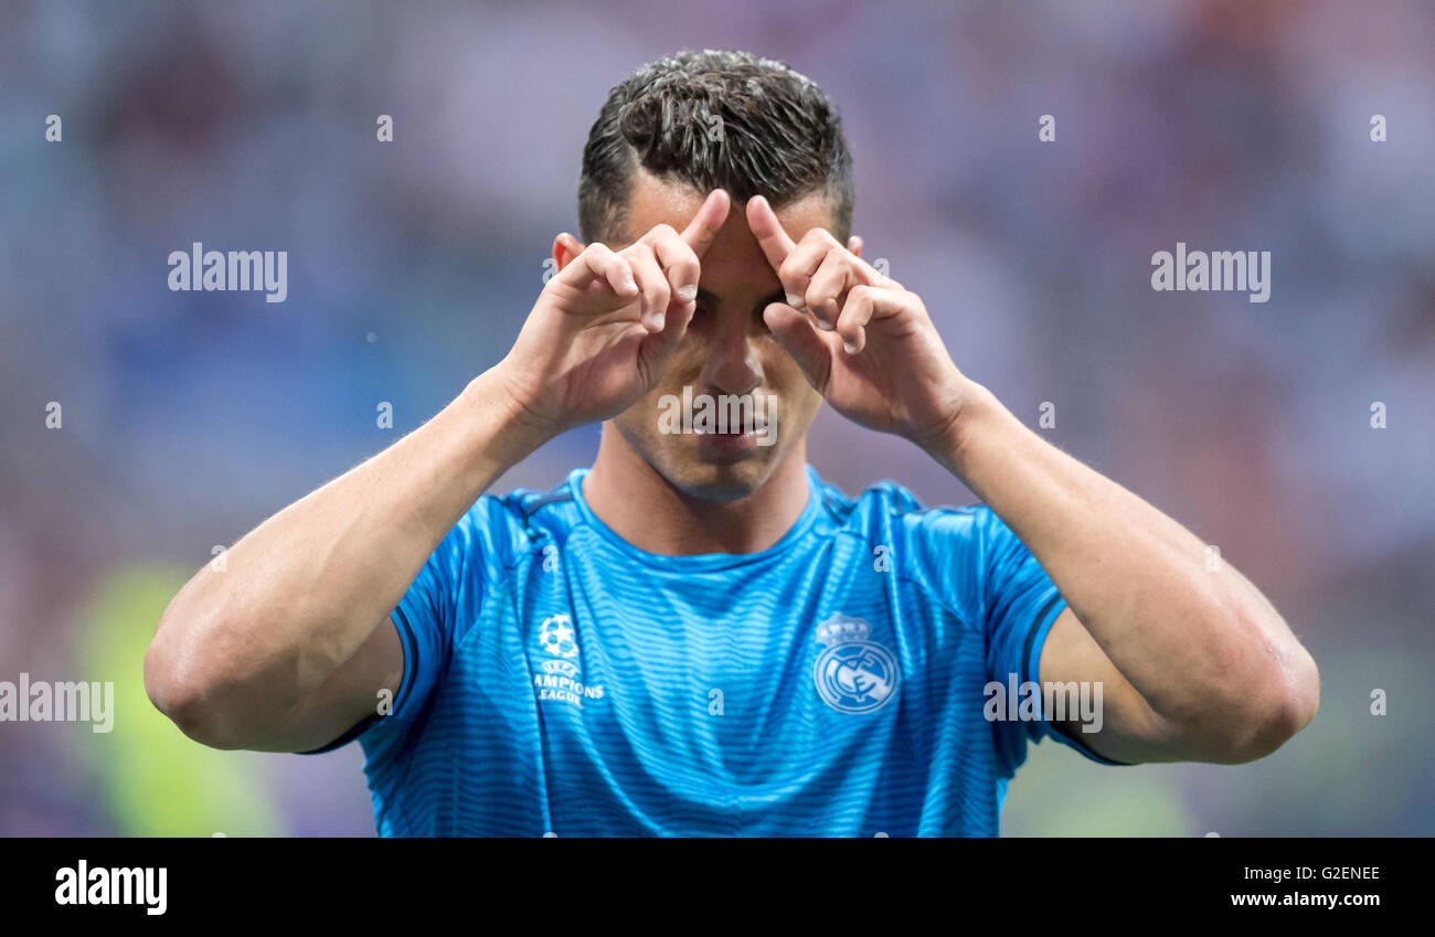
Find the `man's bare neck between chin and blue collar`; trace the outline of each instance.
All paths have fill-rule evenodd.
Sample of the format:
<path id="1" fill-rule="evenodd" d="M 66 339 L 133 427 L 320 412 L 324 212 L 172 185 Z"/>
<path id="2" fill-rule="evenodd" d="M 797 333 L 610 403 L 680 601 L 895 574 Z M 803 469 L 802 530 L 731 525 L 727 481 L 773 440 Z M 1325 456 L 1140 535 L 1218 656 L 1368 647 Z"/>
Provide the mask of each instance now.
<path id="1" fill-rule="evenodd" d="M 709 501 L 674 486 L 604 423 L 583 496 L 613 532 L 651 554 L 762 552 L 802 517 L 809 498 L 805 466 L 802 441 L 751 495 Z"/>

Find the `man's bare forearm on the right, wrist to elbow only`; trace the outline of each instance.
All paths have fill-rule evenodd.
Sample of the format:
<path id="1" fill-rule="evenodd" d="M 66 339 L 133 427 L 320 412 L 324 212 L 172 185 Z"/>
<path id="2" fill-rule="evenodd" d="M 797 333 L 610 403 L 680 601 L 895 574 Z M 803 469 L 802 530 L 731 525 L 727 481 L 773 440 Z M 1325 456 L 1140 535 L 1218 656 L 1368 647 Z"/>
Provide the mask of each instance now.
<path id="1" fill-rule="evenodd" d="M 1310 656 L 1181 524 L 1040 439 L 979 385 L 937 458 L 1027 545 L 1155 713 L 1192 730 L 1309 720 Z"/>

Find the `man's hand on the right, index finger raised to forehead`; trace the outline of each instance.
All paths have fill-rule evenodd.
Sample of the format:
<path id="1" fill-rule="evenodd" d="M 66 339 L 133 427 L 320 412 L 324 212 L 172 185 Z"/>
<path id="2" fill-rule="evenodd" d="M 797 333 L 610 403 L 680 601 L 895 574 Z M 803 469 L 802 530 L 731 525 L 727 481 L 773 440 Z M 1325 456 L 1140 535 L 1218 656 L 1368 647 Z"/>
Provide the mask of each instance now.
<path id="1" fill-rule="evenodd" d="M 824 228 L 794 243 L 762 197 L 748 225 L 788 294 L 763 320 L 832 409 L 934 455 L 954 446 L 970 382 L 921 298 L 862 261 L 855 237 L 852 250 Z"/>

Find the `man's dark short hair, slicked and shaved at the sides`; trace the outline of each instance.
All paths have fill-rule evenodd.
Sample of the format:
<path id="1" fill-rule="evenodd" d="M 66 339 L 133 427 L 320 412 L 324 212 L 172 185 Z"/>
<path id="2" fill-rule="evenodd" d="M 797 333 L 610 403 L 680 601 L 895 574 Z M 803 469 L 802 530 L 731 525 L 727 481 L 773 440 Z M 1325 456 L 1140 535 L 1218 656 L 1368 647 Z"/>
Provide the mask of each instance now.
<path id="1" fill-rule="evenodd" d="M 852 158 L 837 109 L 812 79 L 772 59 L 684 50 L 614 88 L 583 148 L 584 241 L 623 235 L 639 165 L 703 194 L 763 195 L 773 208 L 825 189 L 829 231 L 842 243 L 851 234 Z"/>

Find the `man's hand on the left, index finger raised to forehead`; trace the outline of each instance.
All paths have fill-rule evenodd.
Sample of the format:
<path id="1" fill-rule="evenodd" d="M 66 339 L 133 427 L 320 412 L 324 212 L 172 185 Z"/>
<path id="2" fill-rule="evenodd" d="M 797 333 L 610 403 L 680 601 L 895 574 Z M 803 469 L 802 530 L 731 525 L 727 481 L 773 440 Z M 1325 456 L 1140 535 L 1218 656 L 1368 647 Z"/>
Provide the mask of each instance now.
<path id="1" fill-rule="evenodd" d="M 498 366 L 524 418 L 558 433 L 621 413 L 656 386 L 730 207 L 728 192 L 713 189 L 682 234 L 660 224 L 617 253 L 558 235 L 575 257 L 544 287 Z"/>

